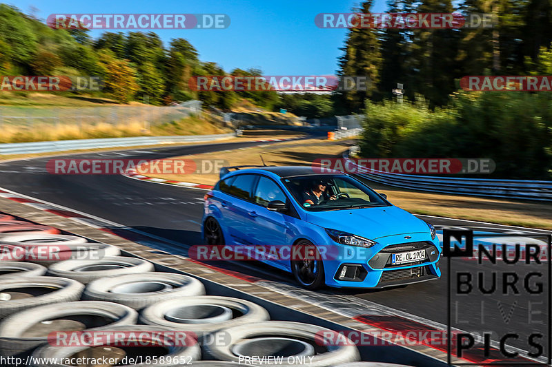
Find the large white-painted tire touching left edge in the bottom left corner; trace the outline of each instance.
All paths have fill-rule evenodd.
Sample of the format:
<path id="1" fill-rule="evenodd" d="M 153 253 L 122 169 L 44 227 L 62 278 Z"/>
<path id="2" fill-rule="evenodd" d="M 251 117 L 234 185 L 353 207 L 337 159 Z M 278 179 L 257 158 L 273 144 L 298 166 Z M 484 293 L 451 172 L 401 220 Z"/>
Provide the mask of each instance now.
<path id="1" fill-rule="evenodd" d="M 82 322 L 67 321 L 78 319 Z M 30 308 L 14 313 L 0 322 L 0 354 L 6 357 L 26 357 L 37 346 L 48 342 L 48 334 L 31 329 L 41 322 L 63 319 L 66 317 L 63 331 L 70 331 L 71 326 L 78 325 L 77 331 L 107 326 L 134 325 L 138 319 L 137 311 L 122 304 L 100 301 L 77 301 Z M 85 324 L 86 322 L 86 324 Z M 63 321 L 61 321 L 63 324 Z M 67 330 L 68 329 L 68 330 Z M 58 329 L 59 330 L 59 329 Z M 49 329 L 46 329 L 48 333 Z M 53 331 L 52 331 L 53 332 Z"/>

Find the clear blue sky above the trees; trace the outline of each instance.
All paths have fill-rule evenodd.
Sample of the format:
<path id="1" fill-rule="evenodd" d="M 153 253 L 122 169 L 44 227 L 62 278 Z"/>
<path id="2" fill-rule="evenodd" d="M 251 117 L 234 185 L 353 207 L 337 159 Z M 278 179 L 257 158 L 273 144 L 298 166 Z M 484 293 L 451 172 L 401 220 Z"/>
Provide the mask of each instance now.
<path id="1" fill-rule="evenodd" d="M 6 0 L 5 0 L 6 1 Z M 201 61 L 214 61 L 230 71 L 255 67 L 266 75 L 334 74 L 346 30 L 321 29 L 314 23 L 321 12 L 350 12 L 353 0 L 18 0 L 7 3 L 25 13 L 46 19 L 50 14 L 110 13 L 223 13 L 231 25 L 226 30 L 155 30 L 166 43 L 188 39 Z M 385 1 L 376 0 L 373 12 L 384 12 Z M 95 30 L 92 36 L 102 31 Z M 111 30 L 109 32 L 112 32 Z"/>

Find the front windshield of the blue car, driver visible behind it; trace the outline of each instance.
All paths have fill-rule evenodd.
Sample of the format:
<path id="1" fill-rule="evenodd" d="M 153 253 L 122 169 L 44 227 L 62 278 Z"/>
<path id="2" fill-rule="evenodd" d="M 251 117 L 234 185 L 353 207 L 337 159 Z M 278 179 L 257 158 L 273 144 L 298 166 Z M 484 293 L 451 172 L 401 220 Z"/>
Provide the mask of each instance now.
<path id="1" fill-rule="evenodd" d="M 387 207 L 389 204 L 359 180 L 346 175 L 298 176 L 282 179 L 308 211 Z"/>

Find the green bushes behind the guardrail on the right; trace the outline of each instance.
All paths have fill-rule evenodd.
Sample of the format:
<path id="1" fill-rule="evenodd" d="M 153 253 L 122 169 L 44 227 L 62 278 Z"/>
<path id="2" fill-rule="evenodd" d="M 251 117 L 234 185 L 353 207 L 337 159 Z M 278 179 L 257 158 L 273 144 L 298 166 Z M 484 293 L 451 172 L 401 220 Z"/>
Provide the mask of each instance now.
<path id="1" fill-rule="evenodd" d="M 446 107 L 366 100 L 366 158 L 492 158 L 495 178 L 552 178 L 552 96 L 458 92 Z M 489 178 L 489 175 L 486 175 Z"/>

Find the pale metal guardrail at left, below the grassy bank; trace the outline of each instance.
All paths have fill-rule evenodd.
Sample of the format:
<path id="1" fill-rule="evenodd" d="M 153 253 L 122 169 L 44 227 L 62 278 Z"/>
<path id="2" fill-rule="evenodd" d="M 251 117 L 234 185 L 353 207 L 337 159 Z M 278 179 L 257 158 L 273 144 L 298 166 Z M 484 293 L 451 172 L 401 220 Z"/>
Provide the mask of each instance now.
<path id="1" fill-rule="evenodd" d="M 235 136 L 230 134 L 217 135 L 190 135 L 190 136 L 137 136 L 135 138 L 104 138 L 39 141 L 33 143 L 0 144 L 0 156 L 6 154 L 48 153 L 52 151 L 66 151 L 79 149 L 95 149 L 110 147 L 132 147 L 138 145 L 157 145 L 170 143 L 208 142 Z"/>

